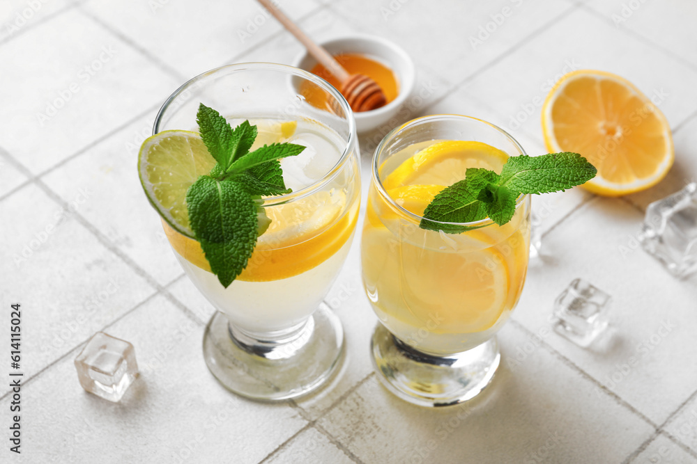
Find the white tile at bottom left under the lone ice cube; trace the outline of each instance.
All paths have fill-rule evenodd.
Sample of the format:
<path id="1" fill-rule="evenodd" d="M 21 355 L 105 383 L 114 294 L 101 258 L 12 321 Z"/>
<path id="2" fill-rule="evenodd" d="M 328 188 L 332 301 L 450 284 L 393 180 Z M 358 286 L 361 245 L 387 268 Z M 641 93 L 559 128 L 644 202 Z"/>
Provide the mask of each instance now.
<path id="1" fill-rule="evenodd" d="M 160 296 L 109 327 L 133 344 L 141 371 L 121 403 L 82 390 L 70 353 L 22 390 L 31 399 L 27 451 L 10 462 L 261 461 L 307 422 L 287 405 L 240 399 L 215 382 L 201 357 L 202 332 Z M 1 420 L 6 429 L 7 415 Z"/>

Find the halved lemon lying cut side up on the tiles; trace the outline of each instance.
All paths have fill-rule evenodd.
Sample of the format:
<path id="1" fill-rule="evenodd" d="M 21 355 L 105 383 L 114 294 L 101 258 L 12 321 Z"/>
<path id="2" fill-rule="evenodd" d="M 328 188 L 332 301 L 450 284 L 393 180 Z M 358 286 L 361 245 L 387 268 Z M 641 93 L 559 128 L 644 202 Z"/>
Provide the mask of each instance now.
<path id="1" fill-rule="evenodd" d="M 673 166 L 671 127 L 638 88 L 609 72 L 566 74 L 542 106 L 547 150 L 578 152 L 598 169 L 585 189 L 606 196 L 648 189 Z"/>

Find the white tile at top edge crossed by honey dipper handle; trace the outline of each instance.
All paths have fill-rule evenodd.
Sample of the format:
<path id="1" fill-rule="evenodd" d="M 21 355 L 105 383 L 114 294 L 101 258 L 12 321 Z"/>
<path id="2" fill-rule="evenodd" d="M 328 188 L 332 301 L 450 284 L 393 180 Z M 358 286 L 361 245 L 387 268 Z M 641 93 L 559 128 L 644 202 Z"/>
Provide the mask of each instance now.
<path id="1" fill-rule="evenodd" d="M 291 19 L 319 7 L 314 0 L 275 4 Z M 84 8 L 185 79 L 227 64 L 281 30 L 256 1 L 92 0 Z"/>

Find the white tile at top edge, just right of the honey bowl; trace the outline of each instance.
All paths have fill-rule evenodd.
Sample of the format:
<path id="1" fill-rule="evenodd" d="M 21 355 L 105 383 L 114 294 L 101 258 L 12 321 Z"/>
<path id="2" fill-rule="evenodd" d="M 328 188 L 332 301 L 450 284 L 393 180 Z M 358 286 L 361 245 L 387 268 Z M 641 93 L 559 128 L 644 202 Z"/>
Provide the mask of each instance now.
<path id="1" fill-rule="evenodd" d="M 438 2 L 438 8 L 391 0 L 342 0 L 331 5 L 362 30 L 393 40 L 416 63 L 453 83 L 503 56 L 512 45 L 572 7 L 570 2 L 552 0 L 496 0 L 476 6 L 448 0 Z"/>

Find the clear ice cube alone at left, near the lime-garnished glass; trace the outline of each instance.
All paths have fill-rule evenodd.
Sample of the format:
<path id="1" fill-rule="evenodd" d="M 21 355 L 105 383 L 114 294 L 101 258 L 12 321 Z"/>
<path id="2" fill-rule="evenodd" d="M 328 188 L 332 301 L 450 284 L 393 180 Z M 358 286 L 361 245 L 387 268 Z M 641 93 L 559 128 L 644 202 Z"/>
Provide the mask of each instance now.
<path id="1" fill-rule="evenodd" d="M 109 401 L 119 401 L 138 376 L 133 345 L 98 332 L 75 358 L 80 385 Z"/>

